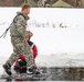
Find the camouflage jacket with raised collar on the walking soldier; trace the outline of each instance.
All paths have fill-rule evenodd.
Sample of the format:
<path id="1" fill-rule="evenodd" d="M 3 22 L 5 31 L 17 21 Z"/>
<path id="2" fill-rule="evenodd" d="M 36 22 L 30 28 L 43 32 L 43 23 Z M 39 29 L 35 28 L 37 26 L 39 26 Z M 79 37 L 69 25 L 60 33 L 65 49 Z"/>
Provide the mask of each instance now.
<path id="1" fill-rule="evenodd" d="M 18 12 L 17 16 L 13 19 L 13 22 L 10 25 L 10 36 L 15 37 L 28 37 L 28 31 L 27 31 L 27 21 L 29 20 L 29 16 L 23 14 L 22 12 Z"/>

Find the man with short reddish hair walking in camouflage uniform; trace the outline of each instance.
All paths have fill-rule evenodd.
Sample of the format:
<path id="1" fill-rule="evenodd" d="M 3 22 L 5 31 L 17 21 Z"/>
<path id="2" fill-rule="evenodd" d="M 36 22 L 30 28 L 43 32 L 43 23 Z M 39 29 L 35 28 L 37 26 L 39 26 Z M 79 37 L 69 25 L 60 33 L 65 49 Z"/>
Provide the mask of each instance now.
<path id="1" fill-rule="evenodd" d="M 10 36 L 11 43 L 13 46 L 13 54 L 3 65 L 3 69 L 8 74 L 11 73 L 11 66 L 20 55 L 25 55 L 27 66 L 31 67 L 33 65 L 33 54 L 31 47 L 28 45 L 27 40 L 29 39 L 31 33 L 27 30 L 27 21 L 29 20 L 28 14 L 30 13 L 30 7 L 23 5 L 22 11 L 17 13 L 13 22 L 10 25 Z"/>

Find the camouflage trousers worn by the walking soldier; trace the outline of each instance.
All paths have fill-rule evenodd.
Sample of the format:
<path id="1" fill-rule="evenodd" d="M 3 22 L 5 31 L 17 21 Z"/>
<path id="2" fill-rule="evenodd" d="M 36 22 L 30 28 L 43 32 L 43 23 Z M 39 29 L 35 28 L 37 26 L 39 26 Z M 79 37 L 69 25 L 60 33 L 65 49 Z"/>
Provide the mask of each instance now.
<path id="1" fill-rule="evenodd" d="M 22 39 L 22 37 L 11 37 L 11 43 L 13 46 L 13 54 L 7 60 L 11 66 L 20 55 L 25 55 L 27 66 L 33 66 L 33 52 L 29 44 Z"/>

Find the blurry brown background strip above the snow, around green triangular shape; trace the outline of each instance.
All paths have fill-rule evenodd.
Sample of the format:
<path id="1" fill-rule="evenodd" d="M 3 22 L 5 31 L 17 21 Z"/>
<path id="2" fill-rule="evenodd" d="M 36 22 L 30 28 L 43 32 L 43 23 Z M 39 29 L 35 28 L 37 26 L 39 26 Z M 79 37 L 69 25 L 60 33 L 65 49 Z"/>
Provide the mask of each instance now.
<path id="1" fill-rule="evenodd" d="M 84 8 L 84 0 L 0 0 L 0 7 L 21 7 L 24 3 L 28 3 L 33 8 L 52 7 L 52 4 L 57 1 L 64 1 L 73 8 Z"/>

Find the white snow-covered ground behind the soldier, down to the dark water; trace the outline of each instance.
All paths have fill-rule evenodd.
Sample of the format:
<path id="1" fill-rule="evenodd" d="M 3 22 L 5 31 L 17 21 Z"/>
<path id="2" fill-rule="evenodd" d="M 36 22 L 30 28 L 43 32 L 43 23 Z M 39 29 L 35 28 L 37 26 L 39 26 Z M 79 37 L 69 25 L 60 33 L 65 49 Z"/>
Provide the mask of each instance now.
<path id="1" fill-rule="evenodd" d="M 9 27 L 17 11 L 20 8 L 0 8 L 0 35 Z M 31 9 L 28 27 L 33 32 L 31 40 L 39 49 L 38 66 L 84 67 L 83 20 L 84 9 Z M 8 32 L 6 38 L 0 38 L 0 66 L 11 52 Z"/>

